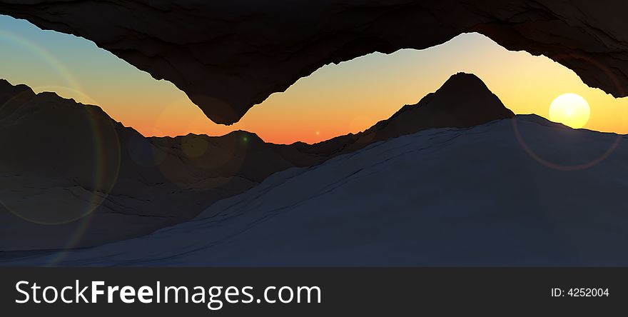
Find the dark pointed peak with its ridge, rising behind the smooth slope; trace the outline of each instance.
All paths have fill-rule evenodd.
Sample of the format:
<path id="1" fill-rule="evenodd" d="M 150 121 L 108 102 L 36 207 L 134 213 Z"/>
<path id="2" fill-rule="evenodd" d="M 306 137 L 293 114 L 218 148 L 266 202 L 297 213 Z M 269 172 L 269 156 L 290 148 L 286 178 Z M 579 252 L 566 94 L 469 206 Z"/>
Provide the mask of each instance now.
<path id="1" fill-rule="evenodd" d="M 275 146 L 295 166 L 310 166 L 369 144 L 433 128 L 467 128 L 515 116 L 474 74 L 457 73 L 417 104 L 405 105 L 389 119 L 358 134 L 338 136 L 317 144 Z"/>

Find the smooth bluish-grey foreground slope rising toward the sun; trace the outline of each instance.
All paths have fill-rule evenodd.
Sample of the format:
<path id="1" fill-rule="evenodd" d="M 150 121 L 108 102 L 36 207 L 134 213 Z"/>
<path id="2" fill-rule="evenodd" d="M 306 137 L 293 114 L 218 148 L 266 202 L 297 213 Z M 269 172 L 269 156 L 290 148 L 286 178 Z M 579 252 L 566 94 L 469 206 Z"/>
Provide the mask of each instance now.
<path id="1" fill-rule="evenodd" d="M 0 261 L 628 265 L 628 144 L 622 139 L 537 116 L 430 129 L 275 173 L 193 221 L 149 236 L 68 253 L 4 253 Z M 604 157 L 614 145 L 589 168 L 568 167 Z"/>

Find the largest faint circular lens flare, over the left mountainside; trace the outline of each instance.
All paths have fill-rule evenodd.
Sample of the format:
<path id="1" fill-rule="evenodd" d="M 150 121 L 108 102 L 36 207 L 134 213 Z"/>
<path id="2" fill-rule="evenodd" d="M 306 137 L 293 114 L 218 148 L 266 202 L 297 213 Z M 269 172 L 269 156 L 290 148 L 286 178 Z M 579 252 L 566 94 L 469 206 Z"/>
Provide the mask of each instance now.
<path id="1" fill-rule="evenodd" d="M 59 88 L 78 93 L 73 88 Z M 26 94 L 28 98 L 23 98 Z M 52 94 L 31 97 L 26 91 L 0 105 L 14 103 L 10 107 L 14 110 L 4 118 L 9 121 L 0 126 L 0 144 L 15 154 L 9 158 L 17 158 L 0 166 L 0 204 L 24 221 L 40 225 L 76 223 L 51 264 L 78 245 L 93 211 L 111 193 L 121 161 L 115 122 L 100 108 L 82 104 L 64 110 L 66 121 L 55 119 L 57 107 L 65 105 L 58 102 L 59 97 Z M 22 124 L 23 120 L 29 124 Z M 39 127 L 36 131 L 31 129 L 33 123 Z M 82 132 L 73 135 L 76 131 L 64 126 L 78 126 Z"/>

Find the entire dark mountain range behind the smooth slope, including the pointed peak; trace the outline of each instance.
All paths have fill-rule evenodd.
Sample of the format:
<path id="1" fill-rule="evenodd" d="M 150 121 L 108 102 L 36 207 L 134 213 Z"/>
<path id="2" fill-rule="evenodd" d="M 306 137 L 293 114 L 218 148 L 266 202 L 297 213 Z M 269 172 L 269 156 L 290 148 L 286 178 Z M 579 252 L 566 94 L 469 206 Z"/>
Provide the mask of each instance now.
<path id="1" fill-rule="evenodd" d="M 0 146 L 10 149 L 0 156 L 0 251 L 143 236 L 278 171 L 425 129 L 512 116 L 477 76 L 459 73 L 390 119 L 318 144 L 269 144 L 246 131 L 145 138 L 98 106 L 0 80 Z"/>

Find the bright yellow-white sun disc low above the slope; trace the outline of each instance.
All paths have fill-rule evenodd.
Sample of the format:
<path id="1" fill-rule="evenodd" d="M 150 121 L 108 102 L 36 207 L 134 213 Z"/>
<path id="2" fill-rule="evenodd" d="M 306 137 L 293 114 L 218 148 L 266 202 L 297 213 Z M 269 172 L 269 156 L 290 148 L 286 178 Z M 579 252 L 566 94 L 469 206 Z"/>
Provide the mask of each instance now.
<path id="1" fill-rule="evenodd" d="M 550 120 L 573 129 L 580 129 L 587 124 L 590 115 L 589 103 L 578 94 L 557 96 L 550 105 Z"/>

